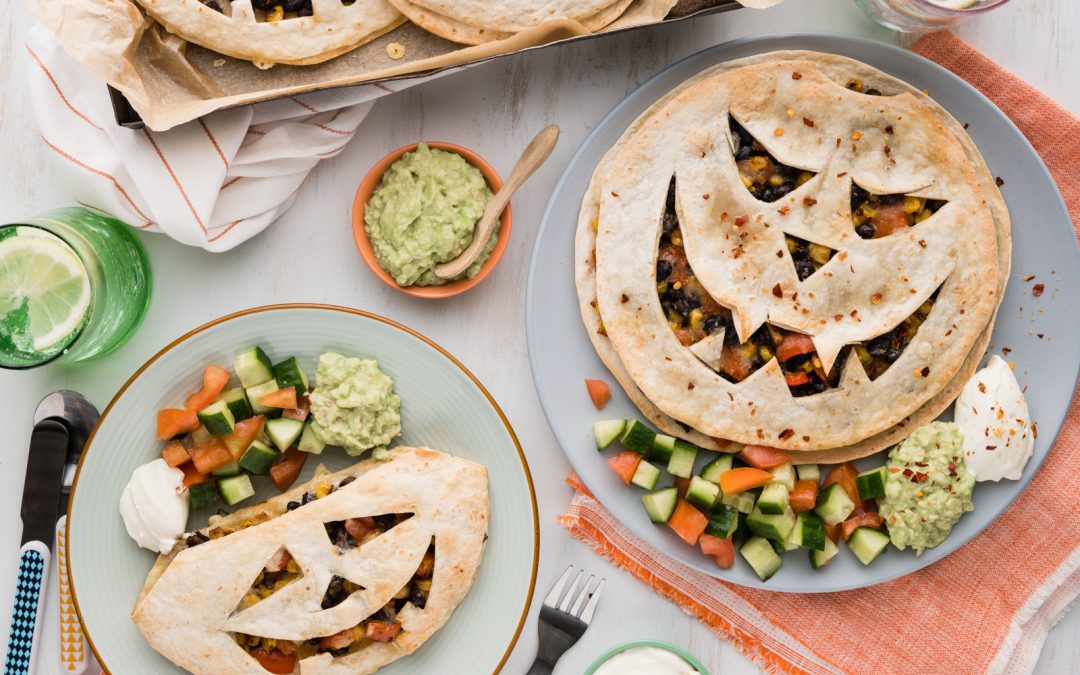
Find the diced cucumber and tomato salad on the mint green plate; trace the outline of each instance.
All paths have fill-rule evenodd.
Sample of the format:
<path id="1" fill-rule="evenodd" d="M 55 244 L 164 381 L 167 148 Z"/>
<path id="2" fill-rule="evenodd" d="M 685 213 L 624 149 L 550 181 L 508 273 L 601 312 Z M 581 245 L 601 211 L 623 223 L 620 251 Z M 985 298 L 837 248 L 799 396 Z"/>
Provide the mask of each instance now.
<path id="1" fill-rule="evenodd" d="M 255 346 L 237 355 L 232 372 L 206 366 L 183 408 L 158 411 L 158 437 L 167 442 L 161 456 L 184 472 L 192 509 L 244 501 L 255 494 L 252 476 L 288 489 L 308 453 L 325 446 L 312 430 L 308 391 L 295 356 L 274 364 Z"/>

